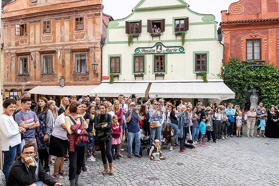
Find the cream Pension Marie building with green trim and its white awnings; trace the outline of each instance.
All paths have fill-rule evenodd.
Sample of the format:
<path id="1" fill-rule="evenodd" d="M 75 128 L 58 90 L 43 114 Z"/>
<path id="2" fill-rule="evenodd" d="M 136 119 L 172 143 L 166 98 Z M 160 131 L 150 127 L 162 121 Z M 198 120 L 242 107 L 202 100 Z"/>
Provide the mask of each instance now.
<path id="1" fill-rule="evenodd" d="M 161 32 L 156 33 L 156 28 Z M 133 34 L 130 46 L 129 33 Z M 131 15 L 108 23 L 103 49 L 103 76 L 115 73 L 117 87 L 132 83 L 136 89 L 139 83 L 146 83 L 146 96 L 189 101 L 234 98 L 234 93 L 217 76 L 223 46 L 218 41 L 215 16 L 196 13 L 182 0 L 141 0 Z M 209 83 L 203 83 L 202 72 L 207 73 Z M 108 88 L 107 96 L 115 97 L 119 91 L 114 93 L 107 82 L 103 81 L 91 95 L 105 96 L 102 91 Z M 127 84 L 124 85 L 126 89 Z M 139 95 L 143 94 L 144 89 Z"/>

